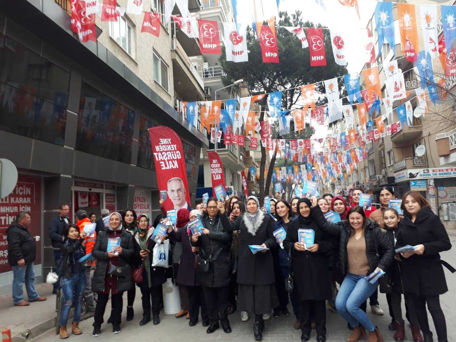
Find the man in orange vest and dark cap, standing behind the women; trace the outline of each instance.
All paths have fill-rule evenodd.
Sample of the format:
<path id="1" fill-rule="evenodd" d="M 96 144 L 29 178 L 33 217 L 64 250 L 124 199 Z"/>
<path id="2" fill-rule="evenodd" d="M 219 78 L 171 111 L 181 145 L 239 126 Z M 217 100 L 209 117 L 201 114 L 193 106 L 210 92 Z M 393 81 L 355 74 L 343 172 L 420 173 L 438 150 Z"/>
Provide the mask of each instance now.
<path id="1" fill-rule="evenodd" d="M 97 233 L 95 232 L 95 223 L 92 223 L 90 218 L 87 217 L 87 212 L 85 210 L 78 210 L 75 214 L 75 221 L 79 227 L 79 233 L 83 232 L 86 224 L 93 224 L 93 233 L 87 233 L 85 240 L 86 246 L 86 254 L 92 253 L 93 246 L 95 245 L 95 240 L 97 239 Z M 93 317 L 95 313 L 95 301 L 93 299 L 93 292 L 92 292 L 92 278 L 90 276 L 90 269 L 95 264 L 93 261 L 90 264 L 84 264 L 85 266 L 85 275 L 86 275 L 86 286 L 84 289 L 84 298 L 86 300 L 86 312 L 83 315 L 83 319 L 87 319 L 89 317 Z"/>

